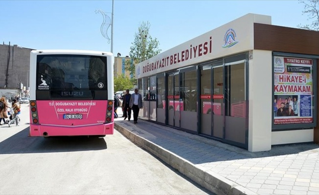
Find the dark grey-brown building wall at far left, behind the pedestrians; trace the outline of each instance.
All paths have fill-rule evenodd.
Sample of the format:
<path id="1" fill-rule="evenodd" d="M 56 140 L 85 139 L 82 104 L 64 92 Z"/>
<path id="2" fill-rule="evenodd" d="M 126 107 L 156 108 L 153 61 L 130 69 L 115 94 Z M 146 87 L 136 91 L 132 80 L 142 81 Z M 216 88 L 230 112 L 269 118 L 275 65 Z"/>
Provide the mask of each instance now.
<path id="1" fill-rule="evenodd" d="M 10 57 L 10 59 L 7 77 L 8 85 L 6 87 L 18 88 L 20 80 L 23 86 L 29 84 L 27 79 L 31 50 L 32 49 L 18 47 L 17 45 L 0 45 L 0 87 L 4 87 L 5 85 L 8 57 Z"/>

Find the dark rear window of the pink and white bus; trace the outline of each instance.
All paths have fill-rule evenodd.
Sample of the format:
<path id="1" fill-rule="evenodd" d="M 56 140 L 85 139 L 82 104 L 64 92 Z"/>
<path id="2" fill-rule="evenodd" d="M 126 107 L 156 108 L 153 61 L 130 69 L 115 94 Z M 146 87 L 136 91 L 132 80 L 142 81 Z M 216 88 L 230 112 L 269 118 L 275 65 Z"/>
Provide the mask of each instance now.
<path id="1" fill-rule="evenodd" d="M 106 90 L 106 57 L 87 55 L 39 55 L 37 57 L 37 91 L 50 91 L 52 98 L 75 94 L 93 96 Z"/>

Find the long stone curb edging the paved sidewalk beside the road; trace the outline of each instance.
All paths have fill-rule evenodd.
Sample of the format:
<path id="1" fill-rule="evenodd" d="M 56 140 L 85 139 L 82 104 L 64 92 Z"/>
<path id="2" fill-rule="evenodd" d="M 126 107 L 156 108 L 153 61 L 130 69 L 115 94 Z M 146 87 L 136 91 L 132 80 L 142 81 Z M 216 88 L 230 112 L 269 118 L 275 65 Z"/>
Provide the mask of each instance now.
<path id="1" fill-rule="evenodd" d="M 122 124 L 118 124 L 122 123 Z M 133 126 L 133 124 L 132 124 Z M 193 163 L 183 159 L 180 156 L 160 147 L 159 145 L 138 136 L 131 132 L 127 124 L 123 122 L 114 122 L 114 128 L 121 133 L 123 136 L 129 138 L 133 143 L 139 147 L 144 148 L 153 155 L 159 157 L 165 163 L 177 169 L 183 175 L 187 176 L 197 184 L 203 186 L 207 190 L 218 194 L 218 195 L 255 195 L 256 193 L 251 190 L 240 186 L 239 184 L 230 181 L 229 179 L 220 176 L 211 171 L 205 172 L 200 168 L 196 167 Z M 127 127 L 127 128 L 125 128 Z"/>

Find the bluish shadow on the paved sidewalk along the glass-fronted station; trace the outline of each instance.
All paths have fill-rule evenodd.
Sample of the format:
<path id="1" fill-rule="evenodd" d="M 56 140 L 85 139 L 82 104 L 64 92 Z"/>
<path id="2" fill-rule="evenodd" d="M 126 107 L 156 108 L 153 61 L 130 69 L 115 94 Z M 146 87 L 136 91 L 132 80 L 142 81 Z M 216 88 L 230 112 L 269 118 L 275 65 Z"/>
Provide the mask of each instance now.
<path id="1" fill-rule="evenodd" d="M 129 121 L 117 121 L 116 124 L 193 164 L 319 152 L 319 145 L 303 143 L 273 146 L 271 151 L 252 153 L 213 139 L 192 135 L 145 120 L 138 120 L 137 124 Z"/>

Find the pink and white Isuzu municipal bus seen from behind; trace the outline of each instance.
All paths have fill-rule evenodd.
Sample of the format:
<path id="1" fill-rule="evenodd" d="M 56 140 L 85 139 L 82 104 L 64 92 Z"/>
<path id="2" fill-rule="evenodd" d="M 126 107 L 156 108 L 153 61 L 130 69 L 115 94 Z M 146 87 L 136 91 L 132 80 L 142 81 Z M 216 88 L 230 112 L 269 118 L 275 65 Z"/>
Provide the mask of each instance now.
<path id="1" fill-rule="evenodd" d="M 29 136 L 98 136 L 114 131 L 113 54 L 34 50 Z"/>

